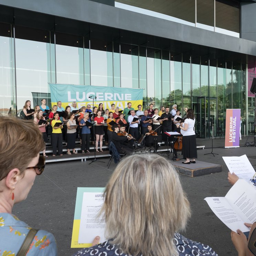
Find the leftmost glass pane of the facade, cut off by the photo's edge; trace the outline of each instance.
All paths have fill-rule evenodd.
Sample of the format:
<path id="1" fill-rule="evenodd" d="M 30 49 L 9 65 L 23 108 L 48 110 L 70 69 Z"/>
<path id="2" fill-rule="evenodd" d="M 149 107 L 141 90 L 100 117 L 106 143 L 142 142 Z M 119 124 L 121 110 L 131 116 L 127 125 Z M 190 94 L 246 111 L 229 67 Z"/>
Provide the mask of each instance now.
<path id="1" fill-rule="evenodd" d="M 13 39 L 11 25 L 0 23 L 0 114 L 10 114 L 13 102 Z M 13 109 L 13 107 L 12 107 Z"/>

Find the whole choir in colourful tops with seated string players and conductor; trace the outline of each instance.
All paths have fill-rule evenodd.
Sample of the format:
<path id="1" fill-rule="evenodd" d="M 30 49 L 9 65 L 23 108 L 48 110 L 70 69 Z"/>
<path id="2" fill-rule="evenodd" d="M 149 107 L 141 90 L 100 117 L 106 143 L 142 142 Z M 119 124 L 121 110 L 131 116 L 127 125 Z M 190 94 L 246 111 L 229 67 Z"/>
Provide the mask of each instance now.
<path id="1" fill-rule="evenodd" d="M 143 145 L 154 146 L 157 149 L 158 144 L 154 143 L 150 136 L 161 136 L 158 141 L 163 140 L 167 146 L 170 141 L 176 139 L 172 137 L 168 140 L 165 132 L 177 131 L 184 136 L 187 131 L 186 125 L 184 126 L 186 115 L 182 118 L 175 104 L 172 109 L 168 106 L 161 106 L 158 109 L 150 104 L 149 108 L 143 111 L 141 105 L 135 109 L 130 102 L 125 109 L 119 109 L 115 104 L 111 104 L 111 109 L 105 110 L 102 103 L 92 109 L 89 104 L 78 109 L 77 103 L 72 102 L 64 109 L 61 101 L 58 101 L 57 105 L 52 106 L 52 110 L 46 105 L 46 99 L 42 99 L 41 103 L 41 106 L 37 105 L 32 109 L 31 102 L 26 100 L 23 107 L 24 118 L 34 120 L 45 142 L 48 141 L 47 135 L 51 136 L 53 156 L 56 156 L 57 151 L 60 156 L 63 155 L 63 141 L 66 142 L 67 154 L 72 154 L 71 150 L 73 154 L 77 154 L 76 139 L 80 139 L 82 153 L 90 153 L 90 141 L 93 145 L 95 143 L 96 152 L 103 152 L 104 137 L 105 145 L 112 141 L 119 153 L 126 154 L 134 149 L 135 142 L 143 141 Z M 184 110 L 188 112 L 188 108 Z M 193 114 L 191 118 L 193 121 L 190 131 L 194 127 Z M 195 139 L 193 143 L 195 145 Z M 175 149 L 174 153 L 174 157 L 177 158 Z M 43 155 L 47 157 L 45 149 Z M 192 158 L 193 162 L 196 156 L 189 155 L 189 158 Z M 190 163 L 190 160 L 185 163 L 188 161 Z"/>

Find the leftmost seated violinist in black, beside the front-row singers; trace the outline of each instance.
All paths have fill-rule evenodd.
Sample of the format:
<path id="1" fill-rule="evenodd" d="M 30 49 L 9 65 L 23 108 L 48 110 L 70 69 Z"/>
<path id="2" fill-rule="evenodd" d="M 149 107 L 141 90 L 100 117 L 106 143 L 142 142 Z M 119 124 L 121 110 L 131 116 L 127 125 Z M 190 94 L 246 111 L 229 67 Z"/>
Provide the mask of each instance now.
<path id="1" fill-rule="evenodd" d="M 119 154 L 127 154 L 129 152 L 132 152 L 133 148 L 124 144 L 125 141 L 131 140 L 131 138 L 128 135 L 119 136 L 117 134 L 119 131 L 119 127 L 117 125 L 113 125 L 112 130 L 113 130 L 112 142 L 115 144 L 118 153 Z"/>

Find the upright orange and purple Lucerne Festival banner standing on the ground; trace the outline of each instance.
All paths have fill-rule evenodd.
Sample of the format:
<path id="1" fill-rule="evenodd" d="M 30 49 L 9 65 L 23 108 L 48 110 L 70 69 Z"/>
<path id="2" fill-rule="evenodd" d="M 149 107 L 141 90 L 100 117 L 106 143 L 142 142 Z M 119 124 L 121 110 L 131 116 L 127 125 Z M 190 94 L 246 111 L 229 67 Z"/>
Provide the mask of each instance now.
<path id="1" fill-rule="evenodd" d="M 239 148 L 241 109 L 226 109 L 225 148 Z"/>

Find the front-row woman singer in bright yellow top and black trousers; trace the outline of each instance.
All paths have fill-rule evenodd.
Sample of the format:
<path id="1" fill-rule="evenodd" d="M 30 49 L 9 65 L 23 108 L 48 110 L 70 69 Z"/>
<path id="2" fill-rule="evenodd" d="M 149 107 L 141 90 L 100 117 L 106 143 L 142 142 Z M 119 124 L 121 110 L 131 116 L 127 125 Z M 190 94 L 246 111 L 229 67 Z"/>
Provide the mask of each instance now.
<path id="1" fill-rule="evenodd" d="M 59 115 L 58 113 L 54 113 L 53 114 L 53 120 L 52 120 L 52 156 L 55 157 L 57 154 L 57 147 L 58 147 L 58 153 L 60 154 L 60 156 L 63 156 L 63 152 L 62 152 L 62 129 L 63 129 L 63 124 L 61 122 L 61 120 L 58 120 Z M 57 126 L 58 123 L 60 123 L 60 126 Z"/>

